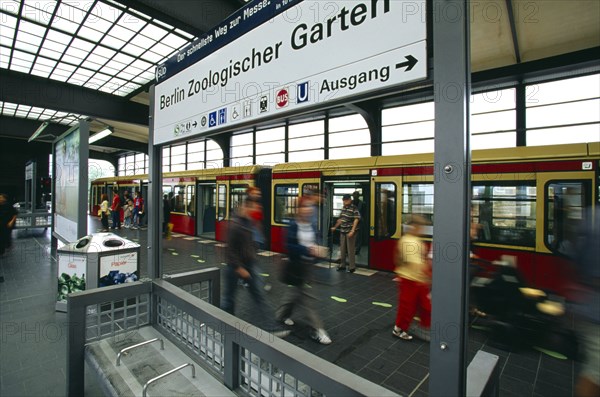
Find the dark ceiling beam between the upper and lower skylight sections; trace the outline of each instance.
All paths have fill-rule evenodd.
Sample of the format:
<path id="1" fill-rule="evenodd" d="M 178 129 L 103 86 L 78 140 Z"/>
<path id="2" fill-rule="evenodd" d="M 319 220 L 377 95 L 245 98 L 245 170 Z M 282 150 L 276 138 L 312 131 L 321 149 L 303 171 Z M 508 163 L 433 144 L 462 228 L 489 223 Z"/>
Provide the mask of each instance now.
<path id="1" fill-rule="evenodd" d="M 148 125 L 148 106 L 74 84 L 0 69 L 0 101 Z"/>

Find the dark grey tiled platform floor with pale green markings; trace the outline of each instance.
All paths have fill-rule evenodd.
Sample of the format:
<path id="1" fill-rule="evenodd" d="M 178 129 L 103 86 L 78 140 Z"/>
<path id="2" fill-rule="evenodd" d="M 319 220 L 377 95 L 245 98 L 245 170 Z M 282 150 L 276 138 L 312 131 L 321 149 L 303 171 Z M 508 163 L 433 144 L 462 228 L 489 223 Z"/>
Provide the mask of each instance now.
<path id="1" fill-rule="evenodd" d="M 90 218 L 90 232 L 99 222 Z M 146 245 L 147 231 L 116 232 Z M 175 234 L 164 240 L 165 273 L 221 266 L 223 245 Z M 56 255 L 50 250 L 48 230 L 14 231 L 13 247 L 0 257 L 0 395 L 64 396 L 66 390 L 66 315 L 54 310 Z M 260 256 L 266 294 L 274 309 L 287 286 L 277 281 L 281 256 Z M 145 250 L 141 251 L 141 275 L 146 275 Z M 336 272 L 327 264 L 317 268 L 311 291 L 319 299 L 319 313 L 333 343 L 311 340 L 301 322 L 286 338 L 307 351 L 401 395 L 426 396 L 429 344 L 418 339 L 403 341 L 392 336 L 397 287 L 394 276 L 359 269 L 354 274 Z M 252 322 L 257 308 L 248 291 L 239 287 L 236 315 Z M 469 355 L 479 349 L 500 357 L 501 396 L 571 396 L 576 363 L 541 352 L 507 351 L 493 347 L 487 335 L 470 331 Z M 93 383 L 86 395 L 98 395 Z"/>

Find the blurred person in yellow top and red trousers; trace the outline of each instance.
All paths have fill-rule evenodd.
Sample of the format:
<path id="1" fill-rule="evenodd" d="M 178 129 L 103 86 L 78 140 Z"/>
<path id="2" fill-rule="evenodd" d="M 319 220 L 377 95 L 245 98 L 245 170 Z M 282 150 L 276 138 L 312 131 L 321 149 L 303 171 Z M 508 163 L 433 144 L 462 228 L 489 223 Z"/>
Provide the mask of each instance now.
<path id="1" fill-rule="evenodd" d="M 396 273 L 398 283 L 398 311 L 393 335 L 404 340 L 413 337 L 408 333 L 413 317 L 419 311 L 420 328 L 415 331 L 429 340 L 431 327 L 431 259 L 422 239 L 423 227 L 429 222 L 422 216 L 413 215 L 408 230 L 397 245 Z"/>

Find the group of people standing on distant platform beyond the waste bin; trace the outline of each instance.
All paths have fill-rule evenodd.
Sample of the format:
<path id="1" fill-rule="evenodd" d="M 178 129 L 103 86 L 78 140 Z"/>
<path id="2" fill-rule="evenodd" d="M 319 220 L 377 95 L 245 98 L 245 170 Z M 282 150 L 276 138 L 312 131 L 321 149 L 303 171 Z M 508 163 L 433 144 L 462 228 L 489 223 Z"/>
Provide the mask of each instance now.
<path id="1" fill-rule="evenodd" d="M 112 217 L 112 230 L 121 228 L 121 211 L 123 211 L 123 227 L 138 229 L 142 226 L 144 208 L 144 198 L 138 191 L 134 193 L 133 199 L 130 198 L 129 192 L 125 191 L 121 201 L 118 189 L 113 189 L 111 204 L 108 202 L 108 195 L 103 193 L 100 196 L 100 210 L 98 211 L 102 222 L 102 231 L 107 232 L 111 229 L 108 224 L 109 216 Z"/>

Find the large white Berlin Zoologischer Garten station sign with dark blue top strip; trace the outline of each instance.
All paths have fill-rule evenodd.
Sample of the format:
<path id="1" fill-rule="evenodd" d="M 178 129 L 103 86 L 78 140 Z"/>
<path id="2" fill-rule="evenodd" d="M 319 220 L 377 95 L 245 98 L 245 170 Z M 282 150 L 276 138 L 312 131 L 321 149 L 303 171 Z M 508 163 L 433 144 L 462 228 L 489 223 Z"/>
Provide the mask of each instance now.
<path id="1" fill-rule="evenodd" d="M 154 144 L 427 77 L 425 0 L 263 0 L 225 22 L 157 67 Z"/>

